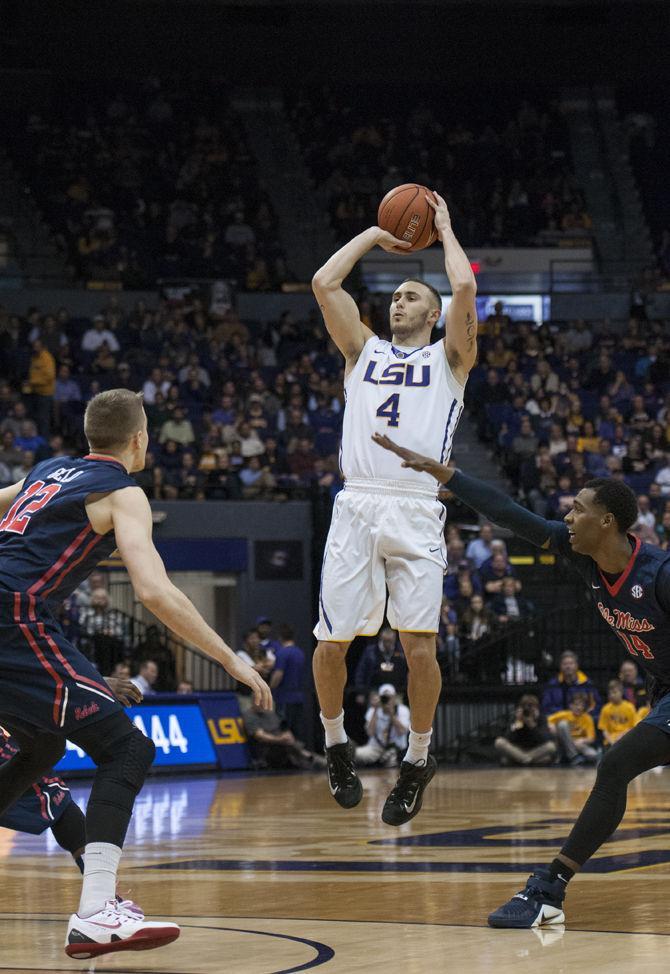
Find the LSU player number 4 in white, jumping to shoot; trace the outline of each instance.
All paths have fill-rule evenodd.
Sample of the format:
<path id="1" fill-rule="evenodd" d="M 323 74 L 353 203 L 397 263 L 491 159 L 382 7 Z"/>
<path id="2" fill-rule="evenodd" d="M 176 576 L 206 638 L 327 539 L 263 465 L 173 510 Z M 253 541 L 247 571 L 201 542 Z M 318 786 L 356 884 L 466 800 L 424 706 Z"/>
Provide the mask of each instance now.
<path id="1" fill-rule="evenodd" d="M 441 196 L 426 196 L 444 247 L 453 297 L 444 339 L 430 345 L 442 312 L 438 292 L 403 281 L 390 307 L 391 341 L 370 331 L 342 282 L 375 246 L 401 254 L 409 244 L 379 227 L 354 237 L 317 271 L 314 294 L 326 328 L 345 359 L 346 407 L 338 494 L 326 541 L 314 634 L 314 679 L 326 735 L 330 791 L 343 808 L 363 794 L 354 749 L 344 731 L 345 657 L 359 635 L 375 635 L 384 619 L 400 632 L 409 668 L 409 748 L 382 812 L 402 825 L 421 809 L 436 770 L 428 754 L 441 677 L 436 632 L 446 569 L 444 508 L 434 476 L 403 468 L 371 443 L 375 432 L 398 430 L 414 448 L 446 461 L 463 408 L 463 389 L 477 354 L 476 284 Z"/>

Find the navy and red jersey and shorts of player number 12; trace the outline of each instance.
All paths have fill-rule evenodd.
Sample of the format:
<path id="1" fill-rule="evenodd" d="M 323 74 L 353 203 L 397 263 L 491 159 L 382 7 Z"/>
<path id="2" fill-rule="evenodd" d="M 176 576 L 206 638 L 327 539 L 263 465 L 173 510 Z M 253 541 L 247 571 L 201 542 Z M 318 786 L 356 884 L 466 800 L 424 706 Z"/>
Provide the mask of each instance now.
<path id="1" fill-rule="evenodd" d="M 93 530 L 87 498 L 134 486 L 115 460 L 56 457 L 33 468 L 0 521 L 0 723 L 67 736 L 122 709 L 53 610 L 116 548 L 113 532 Z"/>

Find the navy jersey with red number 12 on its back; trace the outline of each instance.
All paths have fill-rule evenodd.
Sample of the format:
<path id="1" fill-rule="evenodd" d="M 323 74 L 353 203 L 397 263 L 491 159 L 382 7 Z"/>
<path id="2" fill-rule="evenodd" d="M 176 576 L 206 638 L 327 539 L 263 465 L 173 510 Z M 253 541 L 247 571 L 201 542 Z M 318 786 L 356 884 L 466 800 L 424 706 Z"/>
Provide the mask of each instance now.
<path id="1" fill-rule="evenodd" d="M 95 454 L 38 463 L 0 521 L 0 589 L 67 598 L 116 548 L 113 531 L 93 530 L 86 499 L 136 486 L 122 464 Z"/>

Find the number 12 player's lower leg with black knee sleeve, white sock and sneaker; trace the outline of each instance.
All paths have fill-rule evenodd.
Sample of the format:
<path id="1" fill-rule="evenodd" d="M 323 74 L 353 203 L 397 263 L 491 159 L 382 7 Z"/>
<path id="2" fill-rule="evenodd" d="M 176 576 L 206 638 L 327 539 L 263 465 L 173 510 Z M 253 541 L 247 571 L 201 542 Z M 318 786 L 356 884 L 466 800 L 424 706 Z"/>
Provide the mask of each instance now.
<path id="1" fill-rule="evenodd" d="M 70 917 L 66 953 L 80 959 L 117 950 L 171 943 L 179 928 L 148 923 L 119 908 L 116 876 L 135 798 L 155 755 L 155 746 L 119 710 L 70 733 L 97 765 L 86 809 L 84 882 L 79 909 Z"/>

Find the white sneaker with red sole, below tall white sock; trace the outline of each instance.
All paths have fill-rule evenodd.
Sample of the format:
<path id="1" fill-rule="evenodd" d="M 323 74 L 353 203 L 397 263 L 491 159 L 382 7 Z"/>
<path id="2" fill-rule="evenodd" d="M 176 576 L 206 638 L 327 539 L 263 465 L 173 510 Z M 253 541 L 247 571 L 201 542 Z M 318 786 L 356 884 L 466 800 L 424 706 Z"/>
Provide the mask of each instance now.
<path id="1" fill-rule="evenodd" d="M 90 917 L 73 913 L 65 938 L 68 957 L 87 960 L 117 950 L 152 950 L 165 947 L 181 933 L 176 923 L 149 922 L 116 900 L 107 900 L 102 910 Z"/>

